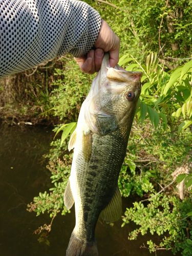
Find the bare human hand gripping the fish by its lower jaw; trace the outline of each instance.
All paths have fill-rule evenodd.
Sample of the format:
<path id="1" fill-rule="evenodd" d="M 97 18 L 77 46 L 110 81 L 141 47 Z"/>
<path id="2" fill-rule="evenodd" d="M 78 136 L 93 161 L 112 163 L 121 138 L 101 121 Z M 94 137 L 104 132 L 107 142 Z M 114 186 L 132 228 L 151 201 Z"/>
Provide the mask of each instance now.
<path id="1" fill-rule="evenodd" d="M 84 73 L 93 74 L 101 67 L 104 52 L 110 54 L 110 66 L 112 68 L 119 61 L 119 37 L 112 31 L 110 26 L 102 20 L 101 29 L 95 42 L 95 50 L 91 50 L 86 57 L 74 58 Z"/>

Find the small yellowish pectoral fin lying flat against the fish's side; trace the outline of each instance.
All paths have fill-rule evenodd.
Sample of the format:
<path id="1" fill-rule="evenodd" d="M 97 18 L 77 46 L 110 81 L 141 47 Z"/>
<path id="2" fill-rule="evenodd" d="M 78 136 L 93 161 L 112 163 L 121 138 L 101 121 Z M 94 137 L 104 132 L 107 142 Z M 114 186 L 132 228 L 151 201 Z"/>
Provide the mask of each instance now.
<path id="1" fill-rule="evenodd" d="M 91 131 L 87 134 L 83 133 L 82 138 L 82 152 L 84 156 L 84 160 L 89 162 L 92 154 L 92 134 Z"/>

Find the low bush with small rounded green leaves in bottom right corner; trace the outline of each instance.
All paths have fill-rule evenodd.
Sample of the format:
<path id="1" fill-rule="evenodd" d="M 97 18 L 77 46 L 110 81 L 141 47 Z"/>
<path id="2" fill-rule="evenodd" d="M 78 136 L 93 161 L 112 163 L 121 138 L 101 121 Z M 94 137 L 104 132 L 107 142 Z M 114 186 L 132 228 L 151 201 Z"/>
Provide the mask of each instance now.
<path id="1" fill-rule="evenodd" d="M 177 197 L 157 195 L 146 206 L 141 202 L 133 203 L 133 207 L 126 208 L 123 224 L 134 221 L 139 228 L 130 232 L 129 239 L 133 240 L 138 234 L 157 233 L 164 236 L 159 245 L 152 240 L 147 241 L 150 252 L 158 249 L 172 249 L 175 254 L 182 251 L 182 255 L 191 255 L 192 250 L 192 216 L 187 214 L 192 209 L 192 200 L 182 202 Z"/>

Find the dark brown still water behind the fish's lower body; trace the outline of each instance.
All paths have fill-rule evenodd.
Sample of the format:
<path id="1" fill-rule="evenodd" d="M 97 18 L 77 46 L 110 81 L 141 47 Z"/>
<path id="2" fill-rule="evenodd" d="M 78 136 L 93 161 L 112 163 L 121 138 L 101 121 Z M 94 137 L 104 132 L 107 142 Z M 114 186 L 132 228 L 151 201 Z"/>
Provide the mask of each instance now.
<path id="1" fill-rule="evenodd" d="M 42 155 L 48 153 L 53 133 L 43 127 L 0 126 L 0 255 L 60 256 L 66 248 L 75 225 L 74 208 L 65 217 L 58 215 L 49 236 L 50 246 L 39 243 L 33 231 L 50 223 L 47 215 L 36 217 L 26 210 L 39 191 L 50 187 L 49 170 Z M 124 208 L 129 200 L 123 200 Z M 131 204 L 130 204 L 131 205 Z M 127 240 L 135 224 L 122 221 L 114 226 L 98 222 L 96 239 L 100 256 L 155 255 L 140 249 L 150 236 Z M 157 240 L 159 238 L 157 237 Z M 164 250 L 157 255 L 172 255 Z"/>

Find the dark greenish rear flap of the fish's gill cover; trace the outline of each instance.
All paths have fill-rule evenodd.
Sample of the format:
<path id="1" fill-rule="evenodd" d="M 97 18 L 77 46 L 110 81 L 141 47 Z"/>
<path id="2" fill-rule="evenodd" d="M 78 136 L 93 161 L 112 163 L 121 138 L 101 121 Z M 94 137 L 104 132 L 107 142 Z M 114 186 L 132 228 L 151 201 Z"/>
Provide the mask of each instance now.
<path id="1" fill-rule="evenodd" d="M 114 116 L 99 112 L 95 117 L 96 126 L 101 136 L 117 130 L 118 123 Z"/>

